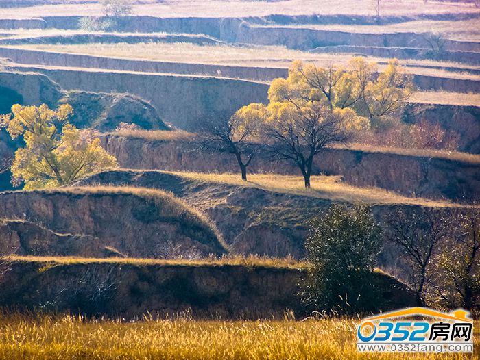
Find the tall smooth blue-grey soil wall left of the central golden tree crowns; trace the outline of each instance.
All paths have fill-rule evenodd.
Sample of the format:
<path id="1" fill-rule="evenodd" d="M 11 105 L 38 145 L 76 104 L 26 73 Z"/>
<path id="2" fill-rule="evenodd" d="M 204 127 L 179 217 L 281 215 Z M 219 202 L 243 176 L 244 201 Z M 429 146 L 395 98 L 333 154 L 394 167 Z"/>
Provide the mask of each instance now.
<path id="1" fill-rule="evenodd" d="M 32 68 L 65 90 L 128 92 L 154 105 L 160 118 L 192 129 L 206 116 L 230 116 L 243 105 L 267 101 L 266 83 L 214 77 Z"/>

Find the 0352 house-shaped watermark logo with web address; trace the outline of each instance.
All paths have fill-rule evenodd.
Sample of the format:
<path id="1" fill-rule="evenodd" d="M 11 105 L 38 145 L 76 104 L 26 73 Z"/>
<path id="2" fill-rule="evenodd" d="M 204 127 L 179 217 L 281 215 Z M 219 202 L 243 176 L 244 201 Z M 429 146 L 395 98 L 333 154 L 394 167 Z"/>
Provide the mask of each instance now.
<path id="1" fill-rule="evenodd" d="M 361 320 L 359 352 L 473 352 L 473 320 L 457 309 L 412 307 Z"/>

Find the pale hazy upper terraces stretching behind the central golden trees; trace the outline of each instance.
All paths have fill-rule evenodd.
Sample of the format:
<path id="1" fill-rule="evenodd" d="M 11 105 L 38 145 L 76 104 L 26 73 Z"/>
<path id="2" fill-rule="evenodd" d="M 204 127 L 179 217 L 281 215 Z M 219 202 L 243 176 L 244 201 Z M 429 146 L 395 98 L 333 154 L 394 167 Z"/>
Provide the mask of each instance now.
<path id="1" fill-rule="evenodd" d="M 53 13 L 48 5 L 16 8 L 0 23 L 0 57 L 14 70 L 44 73 L 67 90 L 136 94 L 183 129 L 193 129 L 202 116 L 265 101 L 264 82 L 285 77 L 295 59 L 324 66 L 361 54 L 381 69 L 397 57 L 418 87 L 412 102 L 479 104 L 475 7 L 410 1 L 393 12 L 385 4 L 377 21 L 365 1 L 352 1 L 351 10 L 290 2 L 265 3 L 261 11 L 239 2 L 238 10 L 228 6 L 213 16 L 205 3 L 139 4 L 109 32 L 80 28 L 82 16 L 101 14 L 95 3 L 56 6 Z M 196 15 L 182 16 L 187 9 Z M 423 96 L 426 90 L 437 94 Z M 470 94 L 467 100 L 463 93 Z"/>

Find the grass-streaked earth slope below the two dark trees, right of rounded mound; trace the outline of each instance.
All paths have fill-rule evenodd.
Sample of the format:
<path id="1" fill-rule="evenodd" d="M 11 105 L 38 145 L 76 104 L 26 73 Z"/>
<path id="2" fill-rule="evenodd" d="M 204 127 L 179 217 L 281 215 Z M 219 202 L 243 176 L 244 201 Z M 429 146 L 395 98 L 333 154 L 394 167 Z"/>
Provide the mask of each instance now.
<path id="1" fill-rule="evenodd" d="M 282 179 L 278 179 L 281 183 Z M 202 179 L 188 174 L 155 170 L 110 170 L 88 177 L 77 185 L 112 184 L 156 188 L 173 193 L 213 220 L 232 253 L 267 255 L 300 259 L 304 255 L 307 222 L 336 202 L 365 201 L 372 205 L 379 222 L 398 207 L 417 211 L 429 204 L 422 199 L 407 202 L 396 198 L 370 198 L 368 194 L 352 194 L 326 188 L 323 192 L 288 192 L 264 188 L 256 183 L 247 185 Z M 279 185 L 281 187 L 281 185 Z M 359 192 L 361 190 L 359 189 Z M 457 211 L 442 203 L 438 211 Z M 391 250 L 387 249 L 383 266 L 392 266 Z"/>

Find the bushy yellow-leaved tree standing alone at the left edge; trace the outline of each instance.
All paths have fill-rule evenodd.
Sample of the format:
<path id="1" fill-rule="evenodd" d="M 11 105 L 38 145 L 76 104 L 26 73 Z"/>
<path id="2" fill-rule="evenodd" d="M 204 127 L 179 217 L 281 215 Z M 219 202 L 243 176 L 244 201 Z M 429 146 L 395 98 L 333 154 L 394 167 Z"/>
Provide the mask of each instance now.
<path id="1" fill-rule="evenodd" d="M 12 114 L 0 116 L 12 138 L 23 136 L 12 164 L 12 182 L 25 183 L 25 190 L 68 185 L 91 172 L 117 166 L 117 159 L 101 146 L 93 130 L 79 130 L 68 123 L 73 113 L 65 104 L 51 110 L 13 105 Z"/>

